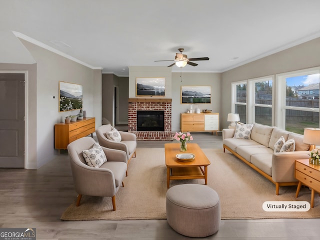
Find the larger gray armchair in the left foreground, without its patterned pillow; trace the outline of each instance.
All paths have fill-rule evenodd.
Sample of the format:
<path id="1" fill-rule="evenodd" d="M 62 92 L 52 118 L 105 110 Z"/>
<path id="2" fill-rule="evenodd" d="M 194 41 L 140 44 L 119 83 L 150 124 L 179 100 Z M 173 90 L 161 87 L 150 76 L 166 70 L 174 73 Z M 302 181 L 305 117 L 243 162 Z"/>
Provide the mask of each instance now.
<path id="1" fill-rule="evenodd" d="M 102 147 L 106 162 L 100 167 L 88 166 L 83 158 L 82 150 L 90 149 L 95 140 L 89 136 L 81 137 L 68 144 L 68 155 L 71 164 L 75 191 L 78 193 L 76 206 L 80 204 L 82 195 L 111 196 L 115 211 L 115 193 L 119 189 L 126 173 L 126 154 L 116 149 Z"/>

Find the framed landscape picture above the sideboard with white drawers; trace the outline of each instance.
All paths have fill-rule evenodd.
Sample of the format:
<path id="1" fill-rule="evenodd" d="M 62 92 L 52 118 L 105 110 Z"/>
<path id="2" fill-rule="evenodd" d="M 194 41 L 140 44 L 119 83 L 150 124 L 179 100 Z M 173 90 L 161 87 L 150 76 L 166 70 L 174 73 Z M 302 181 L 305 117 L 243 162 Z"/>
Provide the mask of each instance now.
<path id="1" fill-rule="evenodd" d="M 181 103 L 211 103 L 211 86 L 181 86 Z"/>

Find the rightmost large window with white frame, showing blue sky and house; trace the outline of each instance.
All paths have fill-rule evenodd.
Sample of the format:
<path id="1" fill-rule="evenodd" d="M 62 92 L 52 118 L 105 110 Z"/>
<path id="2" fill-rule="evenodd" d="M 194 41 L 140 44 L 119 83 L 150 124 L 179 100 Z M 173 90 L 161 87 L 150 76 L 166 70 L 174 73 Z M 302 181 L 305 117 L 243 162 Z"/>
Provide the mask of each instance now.
<path id="1" fill-rule="evenodd" d="M 278 86 L 285 91 L 278 105 L 278 125 L 300 134 L 304 127 L 319 127 L 319 75 L 319 68 L 277 75 Z"/>

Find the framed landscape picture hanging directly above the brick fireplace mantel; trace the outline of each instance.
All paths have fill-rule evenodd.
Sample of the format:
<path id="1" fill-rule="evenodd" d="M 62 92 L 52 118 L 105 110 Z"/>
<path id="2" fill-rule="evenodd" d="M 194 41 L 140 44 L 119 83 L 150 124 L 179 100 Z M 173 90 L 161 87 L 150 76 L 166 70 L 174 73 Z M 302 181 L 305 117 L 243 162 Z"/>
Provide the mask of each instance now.
<path id="1" fill-rule="evenodd" d="M 135 96 L 164 96 L 165 77 L 136 77 Z"/>

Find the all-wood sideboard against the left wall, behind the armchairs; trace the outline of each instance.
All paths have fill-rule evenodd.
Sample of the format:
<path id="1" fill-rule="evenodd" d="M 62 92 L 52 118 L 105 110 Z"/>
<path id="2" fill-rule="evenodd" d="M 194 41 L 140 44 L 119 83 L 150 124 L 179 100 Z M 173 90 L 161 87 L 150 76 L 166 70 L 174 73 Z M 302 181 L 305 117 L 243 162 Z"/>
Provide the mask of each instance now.
<path id="1" fill-rule="evenodd" d="M 83 120 L 60 122 L 54 125 L 54 148 L 66 149 L 67 145 L 95 131 L 95 117 L 85 117 Z"/>

